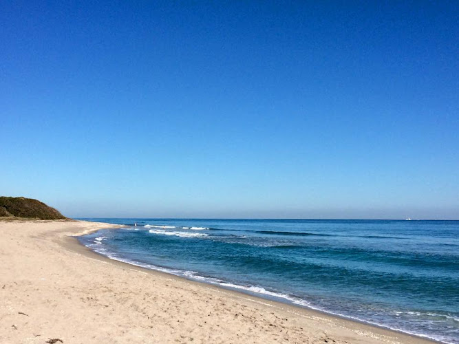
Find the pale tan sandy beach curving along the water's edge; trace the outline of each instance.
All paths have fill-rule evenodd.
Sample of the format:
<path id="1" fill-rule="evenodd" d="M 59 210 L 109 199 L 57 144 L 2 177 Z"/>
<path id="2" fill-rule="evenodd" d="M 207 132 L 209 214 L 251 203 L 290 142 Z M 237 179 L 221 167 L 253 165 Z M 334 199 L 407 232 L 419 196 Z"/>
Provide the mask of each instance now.
<path id="1" fill-rule="evenodd" d="M 112 261 L 74 235 L 0 222 L 0 343 L 432 343 Z"/>

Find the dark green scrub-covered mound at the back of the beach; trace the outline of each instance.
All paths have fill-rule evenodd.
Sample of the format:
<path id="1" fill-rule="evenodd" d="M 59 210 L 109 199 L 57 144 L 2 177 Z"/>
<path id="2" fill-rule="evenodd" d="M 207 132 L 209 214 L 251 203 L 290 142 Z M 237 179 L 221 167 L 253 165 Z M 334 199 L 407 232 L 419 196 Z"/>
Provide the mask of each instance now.
<path id="1" fill-rule="evenodd" d="M 67 219 L 39 200 L 0 196 L 0 219 Z"/>

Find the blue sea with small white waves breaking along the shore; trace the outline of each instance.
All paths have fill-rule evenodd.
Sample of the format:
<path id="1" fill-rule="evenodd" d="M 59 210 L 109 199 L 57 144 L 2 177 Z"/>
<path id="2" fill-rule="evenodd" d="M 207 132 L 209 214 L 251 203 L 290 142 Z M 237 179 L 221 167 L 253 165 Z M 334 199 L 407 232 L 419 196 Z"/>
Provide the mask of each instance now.
<path id="1" fill-rule="evenodd" d="M 113 259 L 459 343 L 459 221 L 87 220 L 125 225 L 80 238 Z"/>

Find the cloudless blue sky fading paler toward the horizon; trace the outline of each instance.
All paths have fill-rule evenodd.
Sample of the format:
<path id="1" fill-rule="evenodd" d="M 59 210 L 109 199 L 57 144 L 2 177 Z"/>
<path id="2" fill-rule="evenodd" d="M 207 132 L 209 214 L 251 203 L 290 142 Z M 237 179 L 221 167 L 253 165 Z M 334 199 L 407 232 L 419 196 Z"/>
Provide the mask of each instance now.
<path id="1" fill-rule="evenodd" d="M 0 194 L 71 217 L 459 219 L 458 1 L 2 1 Z"/>

